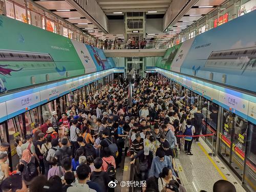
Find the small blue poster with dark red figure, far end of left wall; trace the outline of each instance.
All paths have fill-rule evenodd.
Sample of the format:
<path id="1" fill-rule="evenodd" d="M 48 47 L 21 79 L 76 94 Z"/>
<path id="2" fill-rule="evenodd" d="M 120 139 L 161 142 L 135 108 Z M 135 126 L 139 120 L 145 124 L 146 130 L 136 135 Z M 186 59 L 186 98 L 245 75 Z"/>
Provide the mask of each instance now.
<path id="1" fill-rule="evenodd" d="M 97 71 L 106 70 L 115 67 L 112 58 L 106 58 L 102 49 L 95 48 L 90 45 L 86 45 Z"/>

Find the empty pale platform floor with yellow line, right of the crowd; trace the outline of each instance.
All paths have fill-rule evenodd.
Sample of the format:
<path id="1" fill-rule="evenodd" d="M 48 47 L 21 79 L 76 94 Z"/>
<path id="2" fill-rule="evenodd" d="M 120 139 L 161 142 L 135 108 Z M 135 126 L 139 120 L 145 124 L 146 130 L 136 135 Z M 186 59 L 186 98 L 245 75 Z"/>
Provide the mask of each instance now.
<path id="1" fill-rule="evenodd" d="M 219 157 L 208 155 L 211 149 L 204 140 L 200 138 L 199 141 L 200 143 L 193 142 L 191 146 L 193 156 L 185 154 L 182 146 L 178 158 L 175 159 L 176 168 L 187 192 L 210 192 L 214 183 L 220 179 L 230 181 L 239 192 L 246 191 Z"/>

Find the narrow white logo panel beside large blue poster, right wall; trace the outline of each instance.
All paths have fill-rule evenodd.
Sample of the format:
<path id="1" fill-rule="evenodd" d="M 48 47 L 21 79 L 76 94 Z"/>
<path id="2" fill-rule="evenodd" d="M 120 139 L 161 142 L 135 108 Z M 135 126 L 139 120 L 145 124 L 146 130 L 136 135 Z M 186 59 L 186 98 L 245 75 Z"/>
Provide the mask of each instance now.
<path id="1" fill-rule="evenodd" d="M 186 58 L 187 53 L 188 53 L 193 41 L 194 41 L 194 38 L 191 38 L 182 43 L 179 51 L 177 52 L 177 54 L 175 55 L 175 57 L 173 59 L 172 71 L 180 72 L 180 67 L 181 67 L 184 59 Z"/>

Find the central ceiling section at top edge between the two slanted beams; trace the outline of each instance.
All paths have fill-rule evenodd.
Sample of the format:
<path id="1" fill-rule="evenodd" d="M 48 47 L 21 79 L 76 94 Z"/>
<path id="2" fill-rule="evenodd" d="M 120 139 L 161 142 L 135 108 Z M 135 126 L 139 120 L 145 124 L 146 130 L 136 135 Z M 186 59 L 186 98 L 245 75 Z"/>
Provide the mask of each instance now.
<path id="1" fill-rule="evenodd" d="M 172 0 L 96 0 L 106 15 L 123 12 L 148 12 L 148 14 L 164 14 Z M 122 12 L 122 13 L 117 13 Z"/>

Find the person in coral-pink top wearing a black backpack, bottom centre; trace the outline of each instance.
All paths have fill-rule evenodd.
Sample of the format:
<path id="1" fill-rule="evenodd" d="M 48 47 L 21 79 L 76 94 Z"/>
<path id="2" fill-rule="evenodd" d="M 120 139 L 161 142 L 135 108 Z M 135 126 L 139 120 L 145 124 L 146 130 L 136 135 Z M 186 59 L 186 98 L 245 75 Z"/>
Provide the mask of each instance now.
<path id="1" fill-rule="evenodd" d="M 111 180 L 116 178 L 116 161 L 115 158 L 111 155 L 111 150 L 109 147 L 104 148 L 104 156 L 102 157 L 102 170 L 106 172 Z"/>

